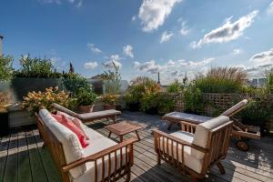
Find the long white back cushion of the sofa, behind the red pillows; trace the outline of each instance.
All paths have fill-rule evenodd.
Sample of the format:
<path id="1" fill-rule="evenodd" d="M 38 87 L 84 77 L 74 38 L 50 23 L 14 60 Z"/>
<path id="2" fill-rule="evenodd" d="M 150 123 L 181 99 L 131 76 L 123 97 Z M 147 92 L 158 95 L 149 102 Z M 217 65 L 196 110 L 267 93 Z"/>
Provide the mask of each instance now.
<path id="1" fill-rule="evenodd" d="M 45 121 L 45 126 L 56 136 L 59 142 L 63 145 L 63 150 L 66 157 L 66 164 L 72 163 L 84 157 L 84 151 L 81 144 L 72 131 L 66 126 L 58 123 L 46 109 L 41 109 L 39 116 Z M 86 165 L 73 168 L 69 171 L 72 177 L 79 177 L 86 171 Z"/>

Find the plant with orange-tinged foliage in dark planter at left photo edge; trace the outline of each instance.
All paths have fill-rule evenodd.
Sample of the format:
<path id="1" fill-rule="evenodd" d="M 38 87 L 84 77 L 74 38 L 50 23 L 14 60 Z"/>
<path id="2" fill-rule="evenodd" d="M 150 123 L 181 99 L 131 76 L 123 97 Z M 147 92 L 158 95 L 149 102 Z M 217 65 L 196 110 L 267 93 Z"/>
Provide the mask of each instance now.
<path id="1" fill-rule="evenodd" d="M 0 136 L 8 134 L 8 110 L 10 96 L 0 93 Z"/>

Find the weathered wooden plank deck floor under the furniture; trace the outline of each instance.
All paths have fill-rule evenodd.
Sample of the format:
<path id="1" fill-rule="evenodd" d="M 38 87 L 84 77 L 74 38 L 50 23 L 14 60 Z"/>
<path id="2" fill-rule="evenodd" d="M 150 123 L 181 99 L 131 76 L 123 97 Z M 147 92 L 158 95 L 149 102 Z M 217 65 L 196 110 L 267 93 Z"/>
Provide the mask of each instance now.
<path id="1" fill-rule="evenodd" d="M 145 129 L 139 131 L 141 141 L 134 147 L 135 165 L 132 167 L 132 181 L 189 181 L 189 177 L 179 174 L 175 168 L 165 163 L 157 166 L 151 130 L 153 128 L 167 130 L 167 124 L 161 121 L 159 116 L 124 112 L 121 118 L 147 125 Z M 108 121 L 99 121 L 87 125 L 107 136 L 108 132 L 103 128 L 107 124 Z M 177 128 L 174 127 L 172 130 L 175 131 Z M 118 140 L 118 137 L 113 134 L 112 139 Z M 245 153 L 239 151 L 232 142 L 228 156 L 223 161 L 227 174 L 220 175 L 217 168 L 213 167 L 207 178 L 202 181 L 273 181 L 273 138 L 250 140 L 249 145 L 250 149 Z M 60 181 L 54 161 L 47 148 L 43 147 L 43 141 L 36 128 L 25 128 L 24 131 L 15 131 L 10 136 L 1 138 L 0 182 L 2 181 Z"/>

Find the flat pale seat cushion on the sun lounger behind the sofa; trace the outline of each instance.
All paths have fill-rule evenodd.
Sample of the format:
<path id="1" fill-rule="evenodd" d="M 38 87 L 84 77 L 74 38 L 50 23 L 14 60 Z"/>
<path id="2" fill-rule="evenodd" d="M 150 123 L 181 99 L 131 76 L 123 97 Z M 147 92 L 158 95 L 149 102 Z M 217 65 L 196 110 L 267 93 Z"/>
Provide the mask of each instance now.
<path id="1" fill-rule="evenodd" d="M 102 118 L 107 116 L 114 116 L 114 115 L 120 115 L 121 112 L 117 111 L 115 109 L 109 109 L 105 111 L 96 111 L 92 113 L 84 113 L 79 114 L 78 117 L 82 120 L 89 120 L 89 119 L 96 119 L 96 118 Z"/>

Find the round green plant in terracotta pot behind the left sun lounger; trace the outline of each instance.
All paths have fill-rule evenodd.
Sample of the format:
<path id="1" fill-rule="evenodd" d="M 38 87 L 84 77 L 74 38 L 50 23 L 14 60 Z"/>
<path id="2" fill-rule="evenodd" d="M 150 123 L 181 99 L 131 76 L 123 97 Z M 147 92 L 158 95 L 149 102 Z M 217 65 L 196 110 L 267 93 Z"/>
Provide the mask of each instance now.
<path id="1" fill-rule="evenodd" d="M 79 110 L 82 113 L 93 112 L 96 94 L 93 92 L 92 88 L 80 88 L 76 97 Z"/>

